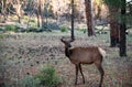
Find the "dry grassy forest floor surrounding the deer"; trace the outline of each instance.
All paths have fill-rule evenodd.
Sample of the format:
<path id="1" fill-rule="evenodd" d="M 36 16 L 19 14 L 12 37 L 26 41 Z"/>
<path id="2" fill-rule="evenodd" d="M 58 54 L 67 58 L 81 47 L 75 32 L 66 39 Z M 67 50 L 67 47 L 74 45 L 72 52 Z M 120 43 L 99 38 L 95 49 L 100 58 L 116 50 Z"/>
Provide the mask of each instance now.
<path id="1" fill-rule="evenodd" d="M 69 39 L 69 33 L 12 33 L 0 39 L 0 81 L 7 87 L 19 87 L 18 83 L 26 76 L 34 75 L 42 65 L 52 65 L 62 77 L 61 87 L 75 87 L 75 66 L 64 54 L 62 36 Z M 76 34 L 76 46 L 97 45 L 107 52 L 103 58 L 105 79 L 102 87 L 132 87 L 132 35 L 127 42 L 127 57 L 119 56 L 118 47 L 110 47 L 109 34 L 88 37 Z M 98 87 L 99 72 L 95 65 L 82 65 L 86 84 L 79 74 L 76 87 Z"/>

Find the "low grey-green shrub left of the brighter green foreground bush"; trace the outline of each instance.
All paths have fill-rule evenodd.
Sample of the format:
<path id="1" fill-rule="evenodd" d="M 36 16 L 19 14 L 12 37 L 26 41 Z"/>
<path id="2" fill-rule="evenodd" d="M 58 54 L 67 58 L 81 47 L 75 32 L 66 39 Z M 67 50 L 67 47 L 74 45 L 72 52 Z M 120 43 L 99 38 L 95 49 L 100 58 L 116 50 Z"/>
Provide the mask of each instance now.
<path id="1" fill-rule="evenodd" d="M 33 76 L 28 75 L 20 81 L 20 87 L 38 87 L 40 81 Z"/>

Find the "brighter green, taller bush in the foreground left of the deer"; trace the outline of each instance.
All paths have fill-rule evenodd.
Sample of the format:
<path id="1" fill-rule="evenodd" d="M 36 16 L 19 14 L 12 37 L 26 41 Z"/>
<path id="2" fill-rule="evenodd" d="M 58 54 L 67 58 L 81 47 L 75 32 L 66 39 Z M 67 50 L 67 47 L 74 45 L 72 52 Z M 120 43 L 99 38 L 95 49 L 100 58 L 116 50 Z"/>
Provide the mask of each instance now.
<path id="1" fill-rule="evenodd" d="M 61 77 L 52 66 L 43 67 L 41 72 L 35 75 L 35 78 L 40 80 L 40 84 L 44 87 L 57 86 L 61 83 Z"/>

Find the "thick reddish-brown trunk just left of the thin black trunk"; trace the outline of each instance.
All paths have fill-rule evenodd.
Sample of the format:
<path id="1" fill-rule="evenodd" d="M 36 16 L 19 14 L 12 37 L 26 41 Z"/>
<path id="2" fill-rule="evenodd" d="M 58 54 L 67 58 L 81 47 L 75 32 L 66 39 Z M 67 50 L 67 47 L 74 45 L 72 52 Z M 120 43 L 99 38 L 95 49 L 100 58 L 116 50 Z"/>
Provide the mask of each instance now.
<path id="1" fill-rule="evenodd" d="M 110 22 L 110 46 L 116 47 L 119 46 L 120 41 L 120 25 L 118 22 L 118 18 L 114 14 L 118 14 L 119 8 L 111 8 L 109 7 L 109 22 Z"/>

